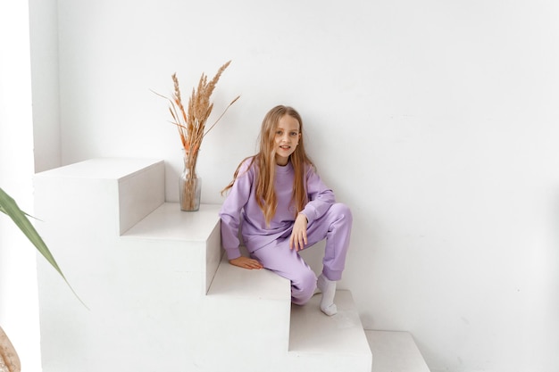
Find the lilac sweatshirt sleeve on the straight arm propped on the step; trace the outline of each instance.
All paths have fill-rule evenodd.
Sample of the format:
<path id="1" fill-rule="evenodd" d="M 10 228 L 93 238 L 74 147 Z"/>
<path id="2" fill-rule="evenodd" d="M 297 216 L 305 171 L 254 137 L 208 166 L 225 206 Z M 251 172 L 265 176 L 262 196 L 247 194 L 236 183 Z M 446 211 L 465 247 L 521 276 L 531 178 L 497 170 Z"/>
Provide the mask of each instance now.
<path id="1" fill-rule="evenodd" d="M 238 249 L 240 244 L 238 230 L 241 223 L 241 211 L 248 202 L 254 181 L 254 174 L 249 172 L 247 167 L 248 164 L 245 163 L 239 169 L 238 177 L 235 179 L 220 211 L 221 244 L 225 252 L 227 252 L 229 260 L 236 259 L 241 255 Z"/>

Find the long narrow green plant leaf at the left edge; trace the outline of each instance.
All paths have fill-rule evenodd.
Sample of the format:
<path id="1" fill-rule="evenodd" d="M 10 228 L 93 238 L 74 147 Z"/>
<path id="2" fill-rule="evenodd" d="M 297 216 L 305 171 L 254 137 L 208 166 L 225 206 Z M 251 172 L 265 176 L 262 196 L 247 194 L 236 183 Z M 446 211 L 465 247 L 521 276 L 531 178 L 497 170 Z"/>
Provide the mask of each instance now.
<path id="1" fill-rule="evenodd" d="M 78 297 L 79 302 L 81 302 L 86 308 L 88 308 L 88 306 L 83 301 L 81 301 L 81 299 L 79 299 L 78 294 L 75 293 L 70 283 L 68 283 L 66 277 L 64 277 L 62 269 L 60 269 L 58 263 L 56 263 L 56 260 L 54 260 L 54 256 L 49 251 L 48 247 L 43 241 L 43 238 L 38 235 L 37 230 L 27 218 L 27 216 L 29 215 L 24 211 L 21 211 L 18 204 L 15 203 L 13 198 L 10 195 L 6 194 L 1 187 L 0 187 L 0 211 L 8 215 L 13 220 L 13 222 L 17 225 L 17 227 L 20 227 L 21 232 L 25 234 L 25 236 L 27 236 L 29 242 L 35 245 L 38 252 L 40 252 L 43 255 L 43 257 L 45 257 L 45 259 L 53 266 L 53 268 L 56 271 L 58 271 L 61 277 L 63 277 L 66 284 L 70 287 L 71 292 L 74 293 L 76 297 Z"/>

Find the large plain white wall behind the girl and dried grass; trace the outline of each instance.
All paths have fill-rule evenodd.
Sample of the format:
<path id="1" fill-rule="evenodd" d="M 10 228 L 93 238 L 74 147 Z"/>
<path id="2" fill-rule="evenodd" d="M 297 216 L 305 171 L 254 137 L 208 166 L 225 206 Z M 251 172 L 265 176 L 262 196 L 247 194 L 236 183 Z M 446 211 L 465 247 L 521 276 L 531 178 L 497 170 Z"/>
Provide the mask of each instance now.
<path id="1" fill-rule="evenodd" d="M 166 103 L 233 62 L 204 139 L 221 203 L 263 114 L 303 115 L 309 153 L 355 214 L 342 285 L 364 326 L 412 332 L 433 371 L 559 368 L 559 5 L 411 0 L 59 0 L 64 164 L 163 158 Z"/>

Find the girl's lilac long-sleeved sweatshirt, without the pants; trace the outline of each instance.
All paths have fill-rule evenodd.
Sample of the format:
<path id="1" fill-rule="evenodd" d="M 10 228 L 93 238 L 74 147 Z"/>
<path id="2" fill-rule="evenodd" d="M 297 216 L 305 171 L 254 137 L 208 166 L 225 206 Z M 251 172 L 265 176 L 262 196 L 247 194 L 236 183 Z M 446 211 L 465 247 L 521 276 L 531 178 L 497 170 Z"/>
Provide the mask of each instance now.
<path id="1" fill-rule="evenodd" d="M 237 179 L 230 189 L 229 195 L 220 211 L 221 244 L 229 260 L 240 257 L 238 246 L 238 230 L 241 227 L 243 241 L 248 252 L 278 239 L 288 237 L 296 218 L 296 207 L 293 201 L 293 179 L 295 172 L 291 162 L 281 167 L 276 165 L 274 182 L 278 207 L 276 214 L 266 226 L 263 211 L 256 203 L 256 161 L 250 166 L 253 158 L 241 164 Z M 306 192 L 309 203 L 301 213 L 305 214 L 309 224 L 321 218 L 330 206 L 335 203 L 334 193 L 325 186 L 313 167 L 306 168 Z"/>

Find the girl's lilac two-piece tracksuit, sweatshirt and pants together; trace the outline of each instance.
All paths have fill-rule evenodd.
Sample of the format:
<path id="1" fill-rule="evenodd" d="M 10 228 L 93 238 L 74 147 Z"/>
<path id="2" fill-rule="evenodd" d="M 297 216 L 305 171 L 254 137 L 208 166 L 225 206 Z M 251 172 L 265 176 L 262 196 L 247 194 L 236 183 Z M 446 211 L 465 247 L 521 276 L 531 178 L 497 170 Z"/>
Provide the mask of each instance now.
<path id="1" fill-rule="evenodd" d="M 293 179 L 291 162 L 276 165 L 276 214 L 266 226 L 263 211 L 256 203 L 257 164 L 247 159 L 220 211 L 221 243 L 229 260 L 240 256 L 238 231 L 241 229 L 246 249 L 254 260 L 266 269 L 291 281 L 292 301 L 304 304 L 314 293 L 316 276 L 294 249 L 289 249 L 289 237 L 296 218 L 292 200 Z M 306 169 L 306 191 L 309 203 L 301 213 L 308 219 L 305 248 L 326 238 L 322 273 L 330 280 L 339 280 L 345 267 L 349 246 L 352 215 L 345 204 L 336 203 L 334 193 L 325 186 L 312 167 Z"/>

